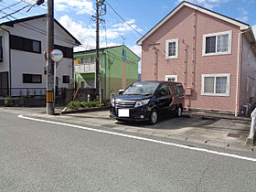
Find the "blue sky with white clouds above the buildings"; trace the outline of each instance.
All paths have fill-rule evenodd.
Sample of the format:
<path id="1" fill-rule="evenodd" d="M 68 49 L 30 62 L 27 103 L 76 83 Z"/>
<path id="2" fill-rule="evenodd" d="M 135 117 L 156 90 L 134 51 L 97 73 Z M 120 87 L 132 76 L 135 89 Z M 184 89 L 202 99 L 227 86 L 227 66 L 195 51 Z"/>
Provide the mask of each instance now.
<path id="1" fill-rule="evenodd" d="M 0 0 L 0 10 L 9 14 L 29 3 L 35 3 L 35 0 L 21 1 Z M 95 12 L 95 1 L 54 0 L 55 18 L 82 43 L 82 46 L 76 50 L 95 48 L 95 23 L 91 20 L 91 15 Z M 181 0 L 106 0 L 106 2 L 137 32 L 128 27 L 107 5 L 107 14 L 102 16 L 106 22 L 105 26 L 101 26 L 101 48 L 120 45 L 124 41 L 127 47 L 141 56 L 141 48 L 136 46 L 136 41 L 141 37 L 140 34 L 144 35 L 154 27 Z M 256 32 L 256 0 L 189 0 L 189 2 L 248 23 Z M 25 9 L 13 16 L 20 18 L 45 14 L 46 8 L 47 3 L 33 7 L 28 13 Z M 5 16 L 3 12 L 0 14 L 1 17 Z M 14 18 L 9 17 L 9 19 Z M 7 19 L 4 18 L 2 21 Z"/>

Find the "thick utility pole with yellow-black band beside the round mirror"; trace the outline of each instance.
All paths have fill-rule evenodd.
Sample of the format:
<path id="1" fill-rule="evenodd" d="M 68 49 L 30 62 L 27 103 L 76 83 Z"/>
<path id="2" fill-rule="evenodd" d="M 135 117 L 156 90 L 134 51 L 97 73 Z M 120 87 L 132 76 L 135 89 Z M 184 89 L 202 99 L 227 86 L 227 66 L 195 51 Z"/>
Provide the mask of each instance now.
<path id="1" fill-rule="evenodd" d="M 48 0 L 47 15 L 47 114 L 54 114 L 54 62 L 50 59 L 49 52 L 54 47 L 54 15 L 53 0 Z"/>

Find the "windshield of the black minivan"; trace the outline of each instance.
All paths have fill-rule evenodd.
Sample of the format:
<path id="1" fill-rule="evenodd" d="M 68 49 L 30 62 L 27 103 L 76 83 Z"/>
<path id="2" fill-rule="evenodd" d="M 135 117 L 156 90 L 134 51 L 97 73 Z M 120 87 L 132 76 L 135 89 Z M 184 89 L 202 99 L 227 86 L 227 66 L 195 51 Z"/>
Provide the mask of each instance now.
<path id="1" fill-rule="evenodd" d="M 138 81 L 128 87 L 123 95 L 153 95 L 160 82 Z"/>

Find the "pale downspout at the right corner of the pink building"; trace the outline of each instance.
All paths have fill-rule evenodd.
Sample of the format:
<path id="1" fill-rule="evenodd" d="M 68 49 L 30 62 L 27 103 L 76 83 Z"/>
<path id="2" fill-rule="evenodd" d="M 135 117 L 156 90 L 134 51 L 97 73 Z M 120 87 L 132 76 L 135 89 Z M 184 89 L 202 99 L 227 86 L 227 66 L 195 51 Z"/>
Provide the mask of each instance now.
<path id="1" fill-rule="evenodd" d="M 235 108 L 235 116 L 238 116 L 238 105 L 239 105 L 239 76 L 240 76 L 240 55 L 242 56 L 242 45 L 241 45 L 241 52 L 240 52 L 240 35 L 243 33 L 246 33 L 250 30 L 249 28 L 246 31 L 240 32 L 239 33 L 239 39 L 238 39 L 238 63 L 237 63 L 237 85 L 236 85 L 236 108 Z"/>

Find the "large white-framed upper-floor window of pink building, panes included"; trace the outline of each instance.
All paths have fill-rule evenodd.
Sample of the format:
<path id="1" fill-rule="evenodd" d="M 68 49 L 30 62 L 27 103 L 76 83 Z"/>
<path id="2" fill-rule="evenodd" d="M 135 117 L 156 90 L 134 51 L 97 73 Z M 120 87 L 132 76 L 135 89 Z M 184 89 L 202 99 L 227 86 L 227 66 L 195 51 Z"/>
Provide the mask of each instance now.
<path id="1" fill-rule="evenodd" d="M 203 56 L 231 54 L 232 31 L 203 36 Z"/>

